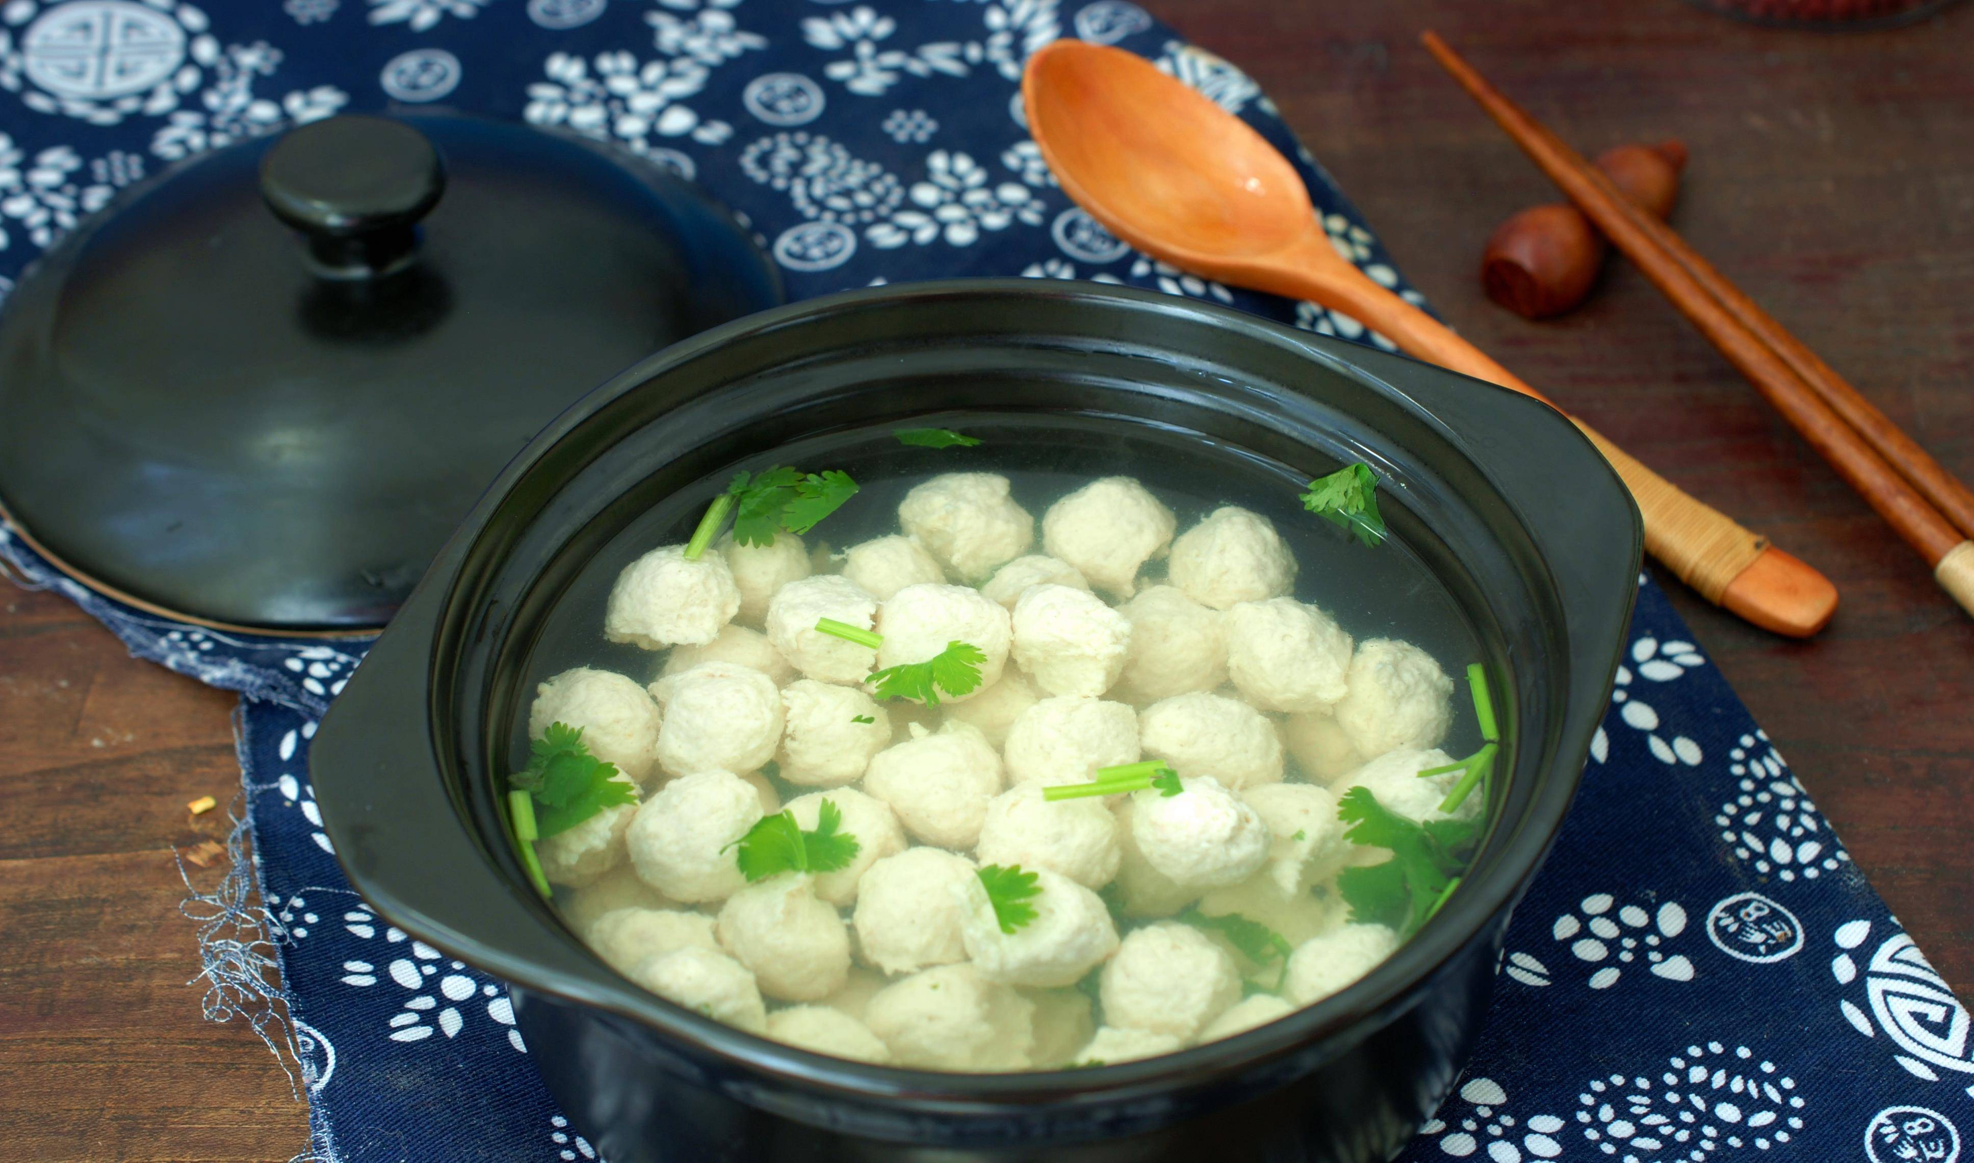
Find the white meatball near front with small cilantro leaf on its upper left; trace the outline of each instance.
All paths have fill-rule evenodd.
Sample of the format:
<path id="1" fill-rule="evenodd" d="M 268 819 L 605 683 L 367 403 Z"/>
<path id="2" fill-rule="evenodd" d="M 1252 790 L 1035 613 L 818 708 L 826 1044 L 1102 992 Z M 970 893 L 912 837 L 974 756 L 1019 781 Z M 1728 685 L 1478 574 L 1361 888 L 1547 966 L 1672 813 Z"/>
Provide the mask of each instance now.
<path id="1" fill-rule="evenodd" d="M 993 900 L 979 877 L 959 885 L 965 900 L 961 932 L 967 958 L 989 981 L 1009 985 L 1076 985 L 1084 973 L 1117 952 L 1117 926 L 1103 898 L 1048 869 L 1034 873 L 1038 892 L 1028 898 L 1034 918 L 1015 932 L 1001 932 Z"/>

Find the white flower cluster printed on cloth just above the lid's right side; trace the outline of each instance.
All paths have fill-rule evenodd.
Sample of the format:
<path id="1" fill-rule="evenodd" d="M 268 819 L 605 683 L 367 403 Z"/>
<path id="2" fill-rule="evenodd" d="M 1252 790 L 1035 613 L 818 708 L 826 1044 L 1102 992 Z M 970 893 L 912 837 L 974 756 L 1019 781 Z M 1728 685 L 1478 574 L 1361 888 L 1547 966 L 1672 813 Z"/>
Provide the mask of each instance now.
<path id="1" fill-rule="evenodd" d="M 616 138 L 636 152 L 649 152 L 651 138 L 689 136 L 719 144 L 732 136 L 724 120 L 703 118 L 687 97 L 707 87 L 707 67 L 691 57 L 598 53 L 594 63 L 570 53 L 551 53 L 547 81 L 527 87 L 523 116 L 533 124 L 569 126 L 592 138 Z"/>

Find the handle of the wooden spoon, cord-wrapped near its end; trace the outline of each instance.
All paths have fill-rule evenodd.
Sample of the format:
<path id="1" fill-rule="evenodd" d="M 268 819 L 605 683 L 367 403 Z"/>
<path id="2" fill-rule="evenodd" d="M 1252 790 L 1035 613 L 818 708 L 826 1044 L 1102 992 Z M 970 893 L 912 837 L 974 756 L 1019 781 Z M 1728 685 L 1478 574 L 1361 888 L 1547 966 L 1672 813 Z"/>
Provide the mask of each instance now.
<path id="1" fill-rule="evenodd" d="M 1309 278 L 1299 290 L 1323 306 L 1348 312 L 1407 355 L 1556 407 L 1486 351 L 1459 338 L 1453 328 L 1378 286 L 1354 267 L 1338 272 L 1342 278 L 1325 274 L 1321 280 Z M 1769 545 L 1767 537 L 1743 529 L 1733 517 L 1682 492 L 1583 421 L 1569 419 L 1605 454 L 1638 502 L 1646 553 L 1694 586 L 1700 596 L 1755 626 L 1794 638 L 1816 634 L 1830 622 L 1838 592 L 1828 579 Z"/>

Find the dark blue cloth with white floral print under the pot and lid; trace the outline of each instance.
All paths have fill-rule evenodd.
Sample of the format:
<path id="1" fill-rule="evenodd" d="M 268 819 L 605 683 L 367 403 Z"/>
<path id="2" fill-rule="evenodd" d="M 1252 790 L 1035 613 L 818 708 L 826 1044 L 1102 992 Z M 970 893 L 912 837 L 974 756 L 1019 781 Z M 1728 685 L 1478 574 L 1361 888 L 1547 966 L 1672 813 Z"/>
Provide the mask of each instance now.
<path id="1" fill-rule="evenodd" d="M 174 158 L 343 109 L 444 103 L 614 138 L 697 178 L 746 215 L 797 298 L 1098 278 L 1382 344 L 1334 312 L 1180 274 L 1076 209 L 1017 97 L 1025 57 L 1074 36 L 1153 57 L 1242 115 L 1297 160 L 1336 249 L 1419 302 L 1253 81 L 1123 0 L 199 4 L 0 6 L 0 274 Z M 191 906 L 207 918 L 207 1007 L 259 1015 L 294 1052 L 314 1157 L 592 1159 L 499 983 L 383 924 L 343 883 L 308 740 L 363 646 L 160 622 L 16 539 L 0 535 L 0 553 L 138 658 L 243 693 L 268 942 L 241 930 L 239 892 Z M 253 1009 L 261 954 L 278 964 L 288 1027 Z M 1966 1009 L 1640 579 L 1611 711 L 1508 934 L 1480 1050 L 1405 1159 L 1954 1163 L 1958 1127 L 1974 1131 L 1970 1082 Z"/>

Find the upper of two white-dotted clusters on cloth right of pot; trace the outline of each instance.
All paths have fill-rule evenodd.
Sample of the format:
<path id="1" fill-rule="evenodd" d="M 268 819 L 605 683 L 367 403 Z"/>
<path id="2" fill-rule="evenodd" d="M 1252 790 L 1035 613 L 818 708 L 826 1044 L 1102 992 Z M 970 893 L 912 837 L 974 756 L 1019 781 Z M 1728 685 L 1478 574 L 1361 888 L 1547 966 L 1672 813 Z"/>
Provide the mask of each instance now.
<path id="1" fill-rule="evenodd" d="M 1739 794 L 1721 804 L 1713 823 L 1735 859 L 1783 883 L 1796 877 L 1814 881 L 1850 863 L 1850 853 L 1838 845 L 1765 731 L 1743 735 L 1727 758 L 1733 760 L 1727 770 L 1739 780 Z"/>

